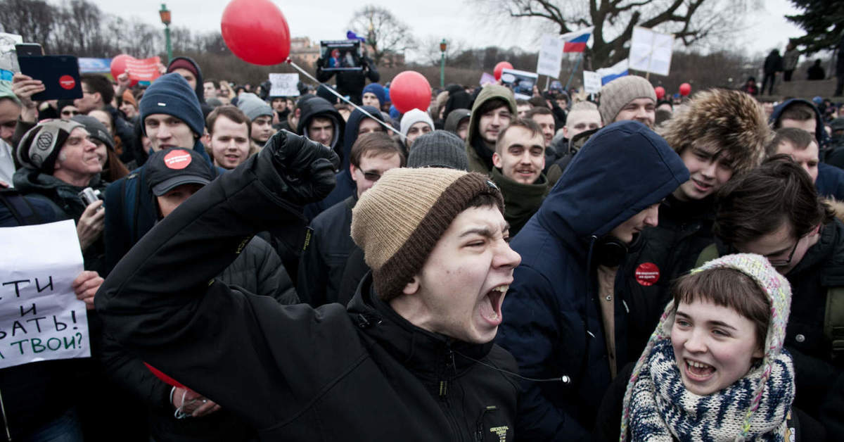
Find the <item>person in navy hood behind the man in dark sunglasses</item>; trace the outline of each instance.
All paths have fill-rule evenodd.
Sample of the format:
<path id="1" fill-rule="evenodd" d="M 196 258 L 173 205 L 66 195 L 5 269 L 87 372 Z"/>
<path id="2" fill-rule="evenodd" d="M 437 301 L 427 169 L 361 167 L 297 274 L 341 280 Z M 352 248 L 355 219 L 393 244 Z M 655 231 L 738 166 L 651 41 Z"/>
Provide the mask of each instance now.
<path id="1" fill-rule="evenodd" d="M 309 101 L 309 103 L 311 101 Z M 369 114 L 372 117 L 375 117 L 376 120 L 378 120 L 379 122 L 387 124 L 381 119 L 381 112 L 378 112 L 375 107 L 361 106 L 360 109 L 369 112 Z M 367 117 L 364 112 L 360 112 L 360 109 L 354 109 L 354 111 L 352 111 L 352 113 L 349 115 L 349 121 L 345 122 L 345 134 L 343 134 L 342 138 L 343 150 L 338 151 L 337 148 L 334 149 L 334 151 L 340 157 L 341 161 L 340 169 L 337 174 L 337 185 L 334 187 L 331 193 L 328 194 L 327 197 L 325 197 L 325 199 L 322 199 L 322 201 L 317 201 L 316 203 L 306 205 L 305 216 L 308 220 L 314 219 L 314 217 L 322 213 L 322 210 L 326 210 L 327 208 L 336 205 L 340 201 L 343 201 L 344 199 L 347 199 L 354 194 L 355 185 L 351 175 L 349 175 L 349 164 L 351 163 L 350 159 L 352 153 L 352 146 L 354 145 L 354 142 L 358 140 L 358 135 L 360 135 L 361 131 L 365 130 L 369 132 L 377 130 L 387 132 L 387 130 L 389 130 L 387 128 L 384 128 L 381 123 L 373 122 L 372 118 Z M 343 119 L 340 118 L 340 121 L 343 121 Z M 361 124 L 367 126 L 368 128 L 362 129 Z"/>

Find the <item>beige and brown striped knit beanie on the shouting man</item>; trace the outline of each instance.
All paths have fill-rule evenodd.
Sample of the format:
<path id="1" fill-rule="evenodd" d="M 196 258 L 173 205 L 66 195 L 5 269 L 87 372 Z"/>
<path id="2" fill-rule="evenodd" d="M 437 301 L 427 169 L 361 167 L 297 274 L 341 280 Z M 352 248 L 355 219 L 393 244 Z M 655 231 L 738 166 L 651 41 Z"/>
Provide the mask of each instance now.
<path id="1" fill-rule="evenodd" d="M 364 250 L 378 296 L 389 301 L 416 275 L 437 241 L 481 194 L 504 198 L 489 177 L 439 167 L 395 168 L 352 210 L 352 239 Z"/>

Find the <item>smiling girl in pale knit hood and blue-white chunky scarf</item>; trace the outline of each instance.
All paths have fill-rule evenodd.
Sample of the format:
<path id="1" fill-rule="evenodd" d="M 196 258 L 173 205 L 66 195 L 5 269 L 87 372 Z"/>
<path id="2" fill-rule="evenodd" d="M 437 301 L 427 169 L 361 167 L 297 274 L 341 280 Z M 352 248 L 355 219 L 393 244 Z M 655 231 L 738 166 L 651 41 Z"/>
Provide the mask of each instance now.
<path id="1" fill-rule="evenodd" d="M 791 287 L 755 254 L 692 270 L 674 286 L 627 384 L 621 440 L 788 440 Z"/>

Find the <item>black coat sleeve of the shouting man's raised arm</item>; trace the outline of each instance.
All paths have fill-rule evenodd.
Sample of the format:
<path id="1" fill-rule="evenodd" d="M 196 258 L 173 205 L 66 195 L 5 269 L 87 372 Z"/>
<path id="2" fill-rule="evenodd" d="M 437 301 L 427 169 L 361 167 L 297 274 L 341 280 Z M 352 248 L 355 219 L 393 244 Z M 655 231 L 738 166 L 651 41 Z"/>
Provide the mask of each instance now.
<path id="1" fill-rule="evenodd" d="M 128 352 L 258 430 L 304 412 L 366 354 L 339 305 L 283 306 L 214 279 L 255 232 L 292 236 L 304 227 L 271 155 L 262 150 L 187 199 L 95 298 Z"/>

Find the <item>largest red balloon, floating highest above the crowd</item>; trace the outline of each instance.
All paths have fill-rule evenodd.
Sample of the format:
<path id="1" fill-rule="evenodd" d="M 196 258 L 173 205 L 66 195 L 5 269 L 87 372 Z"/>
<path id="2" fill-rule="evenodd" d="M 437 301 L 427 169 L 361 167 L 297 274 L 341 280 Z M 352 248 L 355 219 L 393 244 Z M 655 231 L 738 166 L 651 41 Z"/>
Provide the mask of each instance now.
<path id="1" fill-rule="evenodd" d="M 287 20 L 269 0 L 232 0 L 219 26 L 225 45 L 246 63 L 284 63 L 290 54 Z"/>

